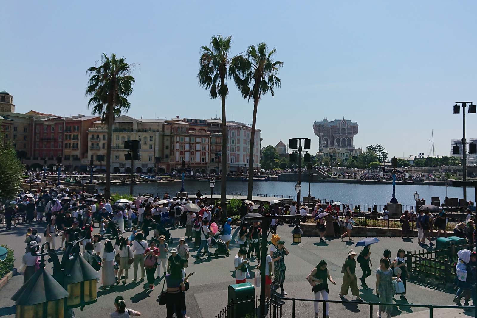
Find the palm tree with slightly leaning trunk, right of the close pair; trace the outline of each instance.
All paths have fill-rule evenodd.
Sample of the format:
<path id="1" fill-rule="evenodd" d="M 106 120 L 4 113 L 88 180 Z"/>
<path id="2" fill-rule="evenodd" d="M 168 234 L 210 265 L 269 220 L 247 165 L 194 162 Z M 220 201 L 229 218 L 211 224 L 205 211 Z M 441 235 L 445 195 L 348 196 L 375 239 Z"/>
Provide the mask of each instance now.
<path id="1" fill-rule="evenodd" d="M 257 109 L 259 101 L 263 95 L 270 91 L 271 96 L 275 95 L 273 89 L 279 88 L 281 80 L 277 77 L 278 69 L 283 65 L 281 61 L 274 61 L 272 55 L 276 49 L 268 51 L 266 43 L 259 43 L 257 46 L 250 45 L 246 52 L 246 57 L 239 56 L 234 60 L 234 68 L 237 74 L 237 83 L 240 83 L 239 90 L 244 98 L 253 99 L 252 131 L 250 133 L 249 149 L 249 189 L 247 197 L 252 199 L 253 191 L 253 159 L 255 147 L 255 127 L 257 123 Z M 239 75 L 243 76 L 238 78 Z M 250 84 L 252 86 L 250 87 Z"/>

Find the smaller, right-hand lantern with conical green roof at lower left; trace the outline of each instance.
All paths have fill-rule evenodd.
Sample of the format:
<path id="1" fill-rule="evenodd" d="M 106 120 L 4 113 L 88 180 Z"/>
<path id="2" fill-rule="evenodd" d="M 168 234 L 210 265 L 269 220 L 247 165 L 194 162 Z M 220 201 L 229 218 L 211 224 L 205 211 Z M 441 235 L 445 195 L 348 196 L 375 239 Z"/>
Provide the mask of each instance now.
<path id="1" fill-rule="evenodd" d="M 79 254 L 73 256 L 68 266 L 71 268 L 70 275 L 65 278 L 68 289 L 68 307 L 84 307 L 95 303 L 98 272 Z"/>

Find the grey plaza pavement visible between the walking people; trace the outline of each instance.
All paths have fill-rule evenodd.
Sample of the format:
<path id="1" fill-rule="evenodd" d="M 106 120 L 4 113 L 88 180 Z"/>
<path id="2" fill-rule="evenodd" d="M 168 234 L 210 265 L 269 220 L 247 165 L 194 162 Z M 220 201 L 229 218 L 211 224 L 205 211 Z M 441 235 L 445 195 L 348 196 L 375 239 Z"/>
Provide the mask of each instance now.
<path id="1" fill-rule="evenodd" d="M 42 226 L 38 226 L 38 232 L 43 233 L 44 223 Z M 15 266 L 20 267 L 21 256 L 24 254 L 26 229 L 28 225 L 20 225 L 16 229 L 10 232 L 5 232 L 0 228 L 0 243 L 7 244 L 15 250 Z M 233 230 L 234 237 L 238 234 L 239 229 Z M 95 232 L 97 229 L 95 229 Z M 329 284 L 330 287 L 330 299 L 339 300 L 338 293 L 342 283 L 343 274 L 341 273 L 341 266 L 346 258 L 348 250 L 355 248 L 355 242 L 362 238 L 355 238 L 354 243 L 342 242 L 340 239 L 326 240 L 324 243 L 319 243 L 318 238 L 302 238 L 300 245 L 291 245 L 291 228 L 288 226 L 281 226 L 278 229 L 278 234 L 285 241 L 287 248 L 290 251 L 290 256 L 285 258 L 285 264 L 287 266 L 285 290 L 288 292 L 289 298 L 306 298 L 312 299 L 313 294 L 311 287 L 305 280 L 312 268 L 318 264 L 321 259 L 325 259 L 328 263 L 328 268 L 332 278 L 336 281 L 336 286 Z M 174 244 L 171 247 L 176 247 L 177 240 L 183 236 L 185 229 L 173 229 L 171 235 L 174 238 Z M 43 238 L 42 238 L 43 239 Z M 385 248 L 391 249 L 393 258 L 398 248 L 404 248 L 404 250 L 419 249 L 419 245 L 416 239 L 411 241 L 405 241 L 400 238 L 379 238 L 380 242 L 374 244 L 371 248 L 371 260 L 373 262 L 372 269 L 378 268 L 379 259 L 383 255 Z M 56 238 L 57 246 L 60 244 L 60 239 Z M 193 242 L 187 242 L 189 246 L 193 246 Z M 232 252 L 227 258 L 225 256 L 219 256 L 217 258 L 201 258 L 196 259 L 194 257 L 189 258 L 189 267 L 187 273 L 195 272 L 195 274 L 189 278 L 190 289 L 186 292 L 187 302 L 187 315 L 192 318 L 210 318 L 215 317 L 218 312 L 225 307 L 227 303 L 227 289 L 228 285 L 235 283 L 233 277 L 233 257 L 236 255 L 238 245 L 233 243 L 230 245 Z M 422 249 L 422 248 L 421 248 Z M 192 249 L 191 255 L 194 256 L 195 248 Z M 361 248 L 355 248 L 359 253 Z M 252 258 L 253 260 L 253 258 Z M 47 263 L 48 266 L 51 264 Z M 257 265 L 257 261 L 252 262 L 252 269 Z M 147 284 L 145 282 L 132 283 L 133 277 L 132 268 L 129 271 L 129 283 L 127 285 L 118 285 L 114 289 L 108 289 L 106 291 L 98 291 L 98 301 L 93 305 L 89 305 L 84 308 L 83 311 L 79 309 L 75 310 L 77 318 L 90 318 L 90 317 L 108 317 L 108 314 L 114 311 L 114 298 L 118 295 L 122 295 L 126 300 L 127 308 L 132 308 L 142 312 L 143 317 L 166 317 L 166 308 L 164 306 L 158 306 L 156 298 L 162 288 L 163 280 L 156 280 L 156 288 L 147 293 L 145 288 Z M 252 271 L 252 278 L 254 272 Z M 361 276 L 361 269 L 357 268 L 358 276 Z M 0 317 L 13 318 L 15 315 L 14 302 L 10 300 L 11 295 L 21 287 L 22 277 L 20 275 L 10 280 L 1 290 L 2 297 L 0 298 Z M 253 279 L 249 280 L 253 283 Z M 375 276 L 367 278 L 367 284 L 370 288 L 361 288 L 361 297 L 367 301 L 378 300 L 374 292 Z M 256 295 L 259 295 L 259 289 L 256 288 Z M 407 284 L 407 300 L 395 299 L 396 303 L 415 303 L 415 304 L 439 304 L 439 305 L 453 305 L 453 295 L 434 289 L 418 286 L 412 283 Z M 350 297 L 353 300 L 354 297 Z M 313 305 L 311 302 L 297 302 L 296 303 L 295 317 L 313 317 Z M 376 308 L 373 310 L 375 311 Z M 396 307 L 393 316 L 402 314 L 414 313 L 420 308 L 406 308 Z M 321 311 L 321 304 L 320 304 Z M 424 313 L 424 312 L 423 312 Z M 375 312 L 373 313 L 375 316 Z M 287 301 L 287 304 L 283 306 L 282 317 L 291 317 L 291 302 Z M 330 317 L 340 318 L 361 318 L 369 316 L 369 306 L 365 304 L 349 305 L 347 304 L 330 304 Z M 427 317 L 427 316 L 426 316 Z M 464 317 L 464 316 L 459 316 Z M 414 317 L 413 317 L 414 318 Z M 453 317 L 452 317 L 453 318 Z"/>

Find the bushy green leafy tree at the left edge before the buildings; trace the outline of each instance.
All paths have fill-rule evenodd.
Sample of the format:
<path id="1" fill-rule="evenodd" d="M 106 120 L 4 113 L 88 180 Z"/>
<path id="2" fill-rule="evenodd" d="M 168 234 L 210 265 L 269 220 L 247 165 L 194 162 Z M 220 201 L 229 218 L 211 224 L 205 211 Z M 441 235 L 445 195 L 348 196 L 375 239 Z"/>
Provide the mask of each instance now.
<path id="1" fill-rule="evenodd" d="M 0 200 L 10 201 L 20 192 L 24 169 L 13 146 L 0 143 Z"/>

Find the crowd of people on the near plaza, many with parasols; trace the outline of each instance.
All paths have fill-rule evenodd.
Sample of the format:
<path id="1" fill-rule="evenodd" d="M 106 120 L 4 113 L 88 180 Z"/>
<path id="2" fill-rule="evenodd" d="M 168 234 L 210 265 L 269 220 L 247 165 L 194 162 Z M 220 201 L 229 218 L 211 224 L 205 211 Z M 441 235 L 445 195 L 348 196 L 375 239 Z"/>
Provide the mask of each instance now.
<path id="1" fill-rule="evenodd" d="M 348 240 L 352 240 L 353 213 L 358 212 L 356 209 L 357 207 L 351 209 L 346 206 L 343 211 L 339 211 L 339 207 L 329 204 L 317 204 L 313 209 L 298 205 L 282 209 L 278 205 L 270 205 L 270 210 L 266 211 L 264 205 L 260 204 L 255 211 L 263 215 L 286 213 L 300 214 L 305 218 L 312 216 L 316 219 L 317 228 L 320 230 L 320 241 L 322 241 L 325 235 L 333 238 L 341 237 L 342 240 L 348 237 Z M 228 255 L 231 251 L 229 244 L 233 238 L 232 230 L 235 229 L 230 218 L 220 222 L 223 219 L 221 208 L 211 204 L 199 191 L 196 198 L 191 200 L 187 198 L 174 200 L 165 193 L 162 199 L 137 197 L 132 201 L 113 202 L 104 200 L 100 194 L 92 196 L 85 192 L 74 193 L 69 189 L 39 189 L 32 193 L 20 193 L 15 200 L 5 204 L 1 210 L 7 229 L 18 224 L 29 226 L 25 238 L 25 254 L 22 258 L 24 266 L 21 273 L 24 275 L 24 282 L 39 268 L 39 258 L 36 253 L 42 243 L 42 237 L 49 243 L 49 248 L 59 250 L 64 249 L 66 243 L 72 242 L 78 237 L 77 233 L 81 232 L 85 237 L 80 242 L 81 255 L 95 270 L 101 270 L 101 288 L 110 289 L 118 284 L 128 284 L 128 279 L 132 277 L 133 283 L 146 281 L 147 292 L 151 292 L 157 281 L 164 279 L 167 292 L 163 300 L 167 318 L 173 315 L 177 318 L 188 317 L 186 295 L 188 278 L 193 274 L 187 274 L 188 259 L 191 257 L 189 244 L 197 248 L 195 255 L 197 259 L 204 254 L 210 257 L 209 248 L 214 246 L 216 252 L 222 246 L 223 252 Z M 253 210 L 253 204 L 244 201 L 239 210 L 240 216 L 244 217 Z M 344 216 L 342 219 L 339 218 L 339 213 Z M 383 215 L 386 215 L 385 211 Z M 439 215 L 437 219 L 446 219 L 445 217 L 445 215 Z M 405 212 L 401 217 L 403 237 L 409 235 L 404 229 L 409 226 L 409 218 L 409 212 Z M 464 237 L 468 238 L 467 233 L 471 232 L 473 218 L 474 216 L 469 212 L 466 227 L 462 228 L 461 224 L 456 226 L 456 235 L 462 232 Z M 419 213 L 416 219 L 418 229 L 421 229 L 420 233 L 422 232 L 421 239 L 430 240 L 430 230 L 426 228 L 426 225 L 440 224 L 439 221 L 429 218 L 426 212 Z M 47 225 L 41 235 L 35 229 L 34 222 L 40 223 L 43 220 Z M 257 268 L 260 268 L 263 262 L 267 298 L 271 297 L 273 290 L 277 290 L 277 294 L 282 297 L 287 295 L 284 285 L 286 259 L 290 251 L 285 241 L 276 234 L 279 225 L 282 224 L 277 219 L 271 222 L 270 245 L 260 244 L 260 237 L 264 230 L 260 222 L 242 221 L 234 235 L 236 243 L 239 244 L 233 266 L 235 283 L 246 282 L 251 277 L 250 265 L 257 262 Z M 185 228 L 186 234 L 178 240 L 176 247 L 171 247 L 170 230 L 178 227 Z M 345 228 L 342 235 L 340 235 L 341 227 Z M 93 234 L 94 228 L 99 229 L 99 233 Z M 127 236 L 126 232 L 131 234 Z M 475 241 L 475 229 L 472 232 L 471 239 Z M 266 255 L 264 259 L 261 258 L 262 252 Z M 386 249 L 383 257 L 379 258 L 379 267 L 374 271 L 376 275 L 374 290 L 381 303 L 392 303 L 395 295 L 405 298 L 409 273 L 406 270 L 404 249 L 398 249 L 395 255 L 395 258 L 392 258 L 391 251 Z M 454 301 L 460 304 L 461 298 L 465 298 L 464 305 L 466 305 L 470 297 L 475 299 L 475 252 L 459 251 L 458 256 L 456 273 L 459 289 Z M 346 299 L 351 289 L 351 294 L 356 297 L 356 300 L 362 300 L 358 289 L 356 263 L 362 270 L 361 286 L 369 288 L 366 278 L 373 273 L 371 258 L 371 245 L 365 246 L 359 253 L 354 249 L 349 250 L 342 264 L 343 281 L 339 293 L 341 298 Z M 130 269 L 133 270 L 132 275 L 130 275 Z M 256 278 L 259 275 L 258 272 L 255 273 Z M 314 299 L 329 299 L 328 282 L 333 285 L 336 282 L 331 277 L 325 260 L 321 260 L 306 279 L 312 287 Z M 116 310 L 110 317 L 140 315 L 133 309 L 125 308 L 124 299 L 120 297 L 116 298 L 114 304 Z M 315 317 L 319 315 L 318 308 L 319 302 L 314 302 Z M 328 304 L 323 310 L 328 317 Z M 381 317 L 382 313 L 389 317 L 391 307 L 379 306 L 377 317 Z"/>

